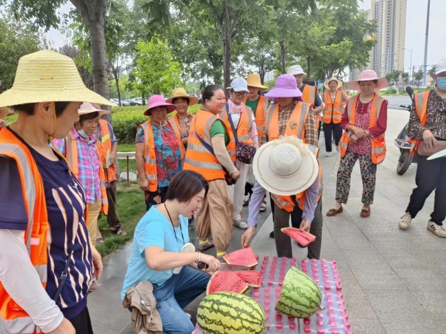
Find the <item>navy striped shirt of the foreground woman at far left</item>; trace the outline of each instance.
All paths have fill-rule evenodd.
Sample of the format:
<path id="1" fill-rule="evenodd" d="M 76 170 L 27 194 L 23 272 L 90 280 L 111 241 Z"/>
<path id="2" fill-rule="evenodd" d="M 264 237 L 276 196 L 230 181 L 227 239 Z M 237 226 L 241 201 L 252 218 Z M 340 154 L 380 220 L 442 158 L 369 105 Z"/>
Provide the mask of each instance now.
<path id="1" fill-rule="evenodd" d="M 12 132 L 12 130 L 10 130 Z M 14 132 L 12 132 L 14 133 Z M 14 133 L 15 134 L 15 133 Z M 89 231 L 84 220 L 86 197 L 84 189 L 70 173 L 67 162 L 52 161 L 27 145 L 36 161 L 43 180 L 48 213 L 47 230 L 47 287 L 53 298 L 58 289 L 71 243 L 73 255 L 69 275 L 56 301 L 64 317 L 72 319 L 86 307 L 86 296 L 92 278 L 92 257 Z M 19 169 L 12 158 L 0 155 L 0 228 L 26 230 L 28 225 Z M 74 242 L 73 242 L 74 241 Z"/>

